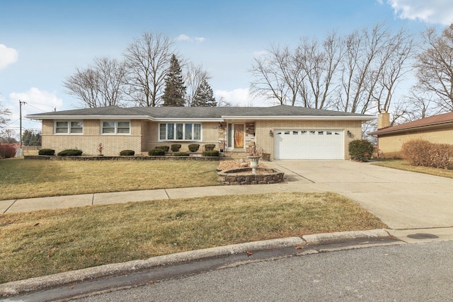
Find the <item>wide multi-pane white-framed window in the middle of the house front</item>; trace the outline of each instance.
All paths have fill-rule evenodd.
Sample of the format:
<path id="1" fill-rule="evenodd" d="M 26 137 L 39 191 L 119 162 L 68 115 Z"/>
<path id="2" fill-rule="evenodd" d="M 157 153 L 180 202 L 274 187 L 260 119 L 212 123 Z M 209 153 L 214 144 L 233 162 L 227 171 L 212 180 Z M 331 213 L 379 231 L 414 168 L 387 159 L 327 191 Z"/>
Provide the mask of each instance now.
<path id="1" fill-rule="evenodd" d="M 201 124 L 166 123 L 159 124 L 160 141 L 200 141 Z"/>

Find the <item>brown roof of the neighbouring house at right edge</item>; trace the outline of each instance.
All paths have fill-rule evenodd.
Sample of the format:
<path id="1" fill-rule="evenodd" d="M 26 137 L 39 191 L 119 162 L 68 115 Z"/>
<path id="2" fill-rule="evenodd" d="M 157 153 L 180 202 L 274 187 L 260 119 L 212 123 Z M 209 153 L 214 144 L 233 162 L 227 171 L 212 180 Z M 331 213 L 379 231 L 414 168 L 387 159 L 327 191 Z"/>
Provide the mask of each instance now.
<path id="1" fill-rule="evenodd" d="M 398 134 L 404 132 L 418 132 L 424 129 L 434 129 L 442 127 L 453 127 L 453 112 L 445 113 L 443 115 L 434 115 L 432 117 L 425 117 L 420 120 L 413 122 L 406 122 L 404 124 L 398 124 L 393 127 L 386 127 L 378 129 L 375 132 L 371 132 L 371 135 L 386 135 L 386 134 Z"/>

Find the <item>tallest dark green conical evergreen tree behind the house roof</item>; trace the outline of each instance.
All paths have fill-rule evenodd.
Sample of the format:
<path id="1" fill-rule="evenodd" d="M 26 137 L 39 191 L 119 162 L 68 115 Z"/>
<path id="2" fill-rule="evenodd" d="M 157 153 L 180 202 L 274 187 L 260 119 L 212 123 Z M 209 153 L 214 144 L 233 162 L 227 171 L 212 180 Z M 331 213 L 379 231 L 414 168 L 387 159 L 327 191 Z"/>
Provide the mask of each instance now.
<path id="1" fill-rule="evenodd" d="M 185 104 L 185 86 L 183 71 L 179 65 L 176 55 L 171 56 L 170 69 L 165 79 L 165 90 L 162 99 L 164 106 L 183 106 Z"/>

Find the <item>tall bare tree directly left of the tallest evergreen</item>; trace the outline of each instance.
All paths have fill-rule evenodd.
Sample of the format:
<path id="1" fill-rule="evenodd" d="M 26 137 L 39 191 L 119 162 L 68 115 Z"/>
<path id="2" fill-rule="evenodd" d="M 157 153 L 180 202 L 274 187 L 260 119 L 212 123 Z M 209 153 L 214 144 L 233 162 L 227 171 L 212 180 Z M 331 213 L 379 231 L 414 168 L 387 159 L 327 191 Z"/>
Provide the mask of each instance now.
<path id="1" fill-rule="evenodd" d="M 164 34 L 143 33 L 124 52 L 127 94 L 141 107 L 161 103 L 165 77 L 173 54 L 173 41 Z"/>

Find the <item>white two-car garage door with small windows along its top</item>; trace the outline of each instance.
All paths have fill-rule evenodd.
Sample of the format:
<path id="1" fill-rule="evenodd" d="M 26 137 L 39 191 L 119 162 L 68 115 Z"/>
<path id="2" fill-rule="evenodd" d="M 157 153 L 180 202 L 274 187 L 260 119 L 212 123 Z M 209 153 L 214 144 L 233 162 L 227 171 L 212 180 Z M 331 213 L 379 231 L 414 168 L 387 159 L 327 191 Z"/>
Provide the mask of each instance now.
<path id="1" fill-rule="evenodd" d="M 343 130 L 277 129 L 275 159 L 344 159 Z"/>

